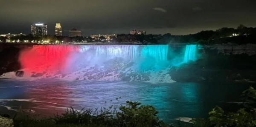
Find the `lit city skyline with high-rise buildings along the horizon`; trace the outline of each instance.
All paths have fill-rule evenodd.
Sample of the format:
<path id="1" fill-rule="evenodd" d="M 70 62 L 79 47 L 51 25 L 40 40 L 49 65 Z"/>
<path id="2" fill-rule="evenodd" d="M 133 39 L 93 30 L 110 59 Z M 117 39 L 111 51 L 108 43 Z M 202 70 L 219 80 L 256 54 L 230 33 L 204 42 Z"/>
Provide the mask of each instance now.
<path id="1" fill-rule="evenodd" d="M 31 24 L 31 34 L 34 38 L 27 36 L 26 34 L 2 34 L 0 37 L 5 37 L 6 39 L 0 40 L 0 42 L 8 42 L 8 43 L 38 43 L 38 44 L 63 44 L 63 43 L 110 43 L 112 40 L 114 41 L 117 38 L 116 34 L 99 34 L 99 35 L 90 35 L 88 37 L 83 37 L 81 35 L 81 30 L 76 28 L 70 29 L 68 31 L 68 38 L 63 36 L 61 23 L 55 24 L 55 34 L 53 37 L 52 35 L 48 35 L 48 25 L 46 23 L 34 23 Z M 134 32 L 133 32 L 134 31 Z M 145 31 L 136 31 L 135 29 L 130 31 L 131 35 L 145 35 Z M 15 36 L 26 36 L 24 38 L 15 38 Z M 36 37 L 41 37 L 41 40 L 36 39 Z M 59 38 L 61 37 L 61 38 Z M 82 37 L 81 39 L 77 37 Z M 30 38 L 30 39 L 28 39 Z"/>

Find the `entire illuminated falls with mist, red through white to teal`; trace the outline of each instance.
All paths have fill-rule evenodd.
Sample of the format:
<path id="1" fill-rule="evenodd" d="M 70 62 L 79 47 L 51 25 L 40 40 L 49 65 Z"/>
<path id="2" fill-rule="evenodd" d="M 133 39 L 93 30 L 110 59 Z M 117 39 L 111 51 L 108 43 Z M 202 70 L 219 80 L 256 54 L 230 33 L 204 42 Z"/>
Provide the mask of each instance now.
<path id="1" fill-rule="evenodd" d="M 180 57 L 169 45 L 49 45 L 26 49 L 19 59 L 23 78 L 173 82 L 170 67 L 196 60 L 196 48 L 186 46 Z"/>

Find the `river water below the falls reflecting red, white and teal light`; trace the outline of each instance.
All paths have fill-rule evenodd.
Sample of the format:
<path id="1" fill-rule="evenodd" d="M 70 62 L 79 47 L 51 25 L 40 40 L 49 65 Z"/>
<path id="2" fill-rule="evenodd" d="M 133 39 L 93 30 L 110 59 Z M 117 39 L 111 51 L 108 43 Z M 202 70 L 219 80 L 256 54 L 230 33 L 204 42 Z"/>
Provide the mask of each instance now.
<path id="1" fill-rule="evenodd" d="M 120 106 L 125 101 L 140 101 L 159 111 L 164 121 L 177 117 L 206 117 L 219 105 L 238 107 L 239 97 L 250 84 L 198 84 L 88 81 L 12 81 L 0 80 L 0 109 L 53 116 L 67 108 Z M 116 98 L 121 99 L 116 100 Z M 112 100 L 112 101 L 111 101 Z M 107 102 L 105 102 L 107 101 Z M 6 110 L 8 109 L 8 110 Z"/>

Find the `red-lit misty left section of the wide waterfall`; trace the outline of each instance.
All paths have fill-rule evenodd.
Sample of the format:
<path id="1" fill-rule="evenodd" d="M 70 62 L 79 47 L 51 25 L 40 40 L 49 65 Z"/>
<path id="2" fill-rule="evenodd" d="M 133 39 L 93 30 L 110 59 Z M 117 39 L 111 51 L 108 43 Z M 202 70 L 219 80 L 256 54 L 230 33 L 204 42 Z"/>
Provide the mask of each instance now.
<path id="1" fill-rule="evenodd" d="M 35 72 L 61 71 L 74 52 L 79 52 L 79 46 L 33 46 L 20 52 L 19 61 L 22 68 Z"/>

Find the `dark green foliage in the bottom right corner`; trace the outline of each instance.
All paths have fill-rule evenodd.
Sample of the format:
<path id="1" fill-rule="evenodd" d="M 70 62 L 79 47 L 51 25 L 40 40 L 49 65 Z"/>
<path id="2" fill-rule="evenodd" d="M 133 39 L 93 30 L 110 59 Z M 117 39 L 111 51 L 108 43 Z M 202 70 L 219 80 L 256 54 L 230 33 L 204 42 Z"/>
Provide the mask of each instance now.
<path id="1" fill-rule="evenodd" d="M 244 104 L 255 104 L 256 90 L 253 87 L 242 94 Z M 256 109 L 245 105 L 235 113 L 225 114 L 221 107 L 216 106 L 209 112 L 209 118 L 192 119 L 195 127 L 255 127 Z"/>

